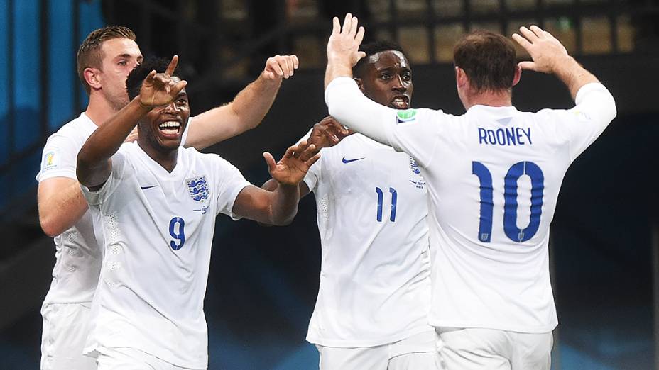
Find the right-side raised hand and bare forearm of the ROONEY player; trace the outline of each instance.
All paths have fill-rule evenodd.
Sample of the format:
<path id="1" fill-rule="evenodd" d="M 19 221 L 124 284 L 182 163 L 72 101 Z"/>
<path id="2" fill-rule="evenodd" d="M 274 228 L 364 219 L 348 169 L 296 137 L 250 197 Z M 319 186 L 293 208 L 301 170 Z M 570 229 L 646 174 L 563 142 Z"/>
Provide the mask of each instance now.
<path id="1" fill-rule="evenodd" d="M 551 33 L 538 26 L 520 27 L 520 33 L 513 34 L 515 40 L 533 59 L 520 62 L 522 69 L 555 74 L 570 90 L 572 99 L 584 85 L 599 82 L 597 77 L 579 65 L 567 54 L 565 47 Z"/>

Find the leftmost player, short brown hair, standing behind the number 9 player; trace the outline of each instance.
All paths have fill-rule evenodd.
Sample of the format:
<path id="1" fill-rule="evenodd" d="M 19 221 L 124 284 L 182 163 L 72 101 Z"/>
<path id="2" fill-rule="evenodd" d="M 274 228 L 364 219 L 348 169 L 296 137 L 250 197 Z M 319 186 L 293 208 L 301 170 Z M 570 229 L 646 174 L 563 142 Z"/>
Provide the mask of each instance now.
<path id="1" fill-rule="evenodd" d="M 55 238 L 57 262 L 41 309 L 41 369 L 96 369 L 82 348 L 101 257 L 75 177 L 75 158 L 98 125 L 128 103 L 126 76 L 141 58 L 129 28 L 108 26 L 90 33 L 77 54 L 78 74 L 89 94 L 87 110 L 51 135 L 43 149 L 36 176 L 39 220 L 43 231 Z M 258 125 L 282 77 L 288 78 L 297 65 L 295 56 L 268 59 L 261 77 L 232 103 L 196 116 L 183 142 L 201 149 Z"/>

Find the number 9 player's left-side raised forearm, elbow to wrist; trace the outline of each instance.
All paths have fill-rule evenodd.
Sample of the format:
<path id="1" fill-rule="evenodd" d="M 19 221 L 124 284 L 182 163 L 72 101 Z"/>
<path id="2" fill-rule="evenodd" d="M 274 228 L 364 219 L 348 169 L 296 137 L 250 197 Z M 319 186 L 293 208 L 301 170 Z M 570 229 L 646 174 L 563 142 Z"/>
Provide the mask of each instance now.
<path id="1" fill-rule="evenodd" d="M 109 176 L 109 159 L 124 143 L 141 117 L 151 108 L 141 105 L 136 96 L 87 138 L 78 153 L 76 174 L 80 184 L 97 186 Z"/>

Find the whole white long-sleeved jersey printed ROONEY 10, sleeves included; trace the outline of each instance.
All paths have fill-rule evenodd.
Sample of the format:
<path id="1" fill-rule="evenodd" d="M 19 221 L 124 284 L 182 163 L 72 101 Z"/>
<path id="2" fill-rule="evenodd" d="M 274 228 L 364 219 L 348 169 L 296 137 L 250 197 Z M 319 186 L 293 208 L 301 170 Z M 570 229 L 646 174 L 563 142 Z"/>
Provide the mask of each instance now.
<path id="1" fill-rule="evenodd" d="M 430 324 L 551 331 L 549 225 L 567 167 L 616 115 L 609 91 L 587 84 L 569 110 L 473 106 L 462 116 L 360 96 L 352 79 L 334 80 L 329 113 L 361 130 L 370 120 L 372 135 L 381 125 L 382 140 L 418 159 L 427 181 Z"/>

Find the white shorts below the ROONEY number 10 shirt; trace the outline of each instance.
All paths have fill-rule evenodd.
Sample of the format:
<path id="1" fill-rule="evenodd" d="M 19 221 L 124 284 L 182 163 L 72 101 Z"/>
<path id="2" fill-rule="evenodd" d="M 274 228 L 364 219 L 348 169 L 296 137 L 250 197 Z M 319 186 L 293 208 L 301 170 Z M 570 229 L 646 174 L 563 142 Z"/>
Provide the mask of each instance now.
<path id="1" fill-rule="evenodd" d="M 551 332 L 531 334 L 494 329 L 436 328 L 442 370 L 550 370 Z"/>

